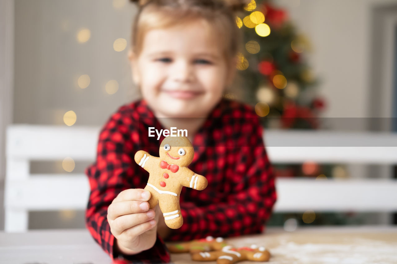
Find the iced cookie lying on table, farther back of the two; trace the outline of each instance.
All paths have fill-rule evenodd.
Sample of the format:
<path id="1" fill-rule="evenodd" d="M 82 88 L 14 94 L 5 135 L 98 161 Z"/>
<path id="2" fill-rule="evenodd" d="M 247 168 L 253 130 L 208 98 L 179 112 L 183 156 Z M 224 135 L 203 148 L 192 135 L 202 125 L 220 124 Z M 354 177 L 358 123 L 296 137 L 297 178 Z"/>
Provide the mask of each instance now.
<path id="1" fill-rule="evenodd" d="M 227 243 L 222 237 L 214 238 L 208 236 L 203 239 L 197 239 L 185 243 L 169 245 L 168 249 L 171 253 L 199 253 L 207 251 L 217 251 L 225 247 Z"/>

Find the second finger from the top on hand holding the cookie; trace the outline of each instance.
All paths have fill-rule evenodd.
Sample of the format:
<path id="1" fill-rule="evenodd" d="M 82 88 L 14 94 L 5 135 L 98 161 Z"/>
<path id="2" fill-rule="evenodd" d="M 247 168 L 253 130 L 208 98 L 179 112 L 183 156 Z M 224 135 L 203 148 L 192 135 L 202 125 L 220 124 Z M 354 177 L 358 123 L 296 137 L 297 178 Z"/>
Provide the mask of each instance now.
<path id="1" fill-rule="evenodd" d="M 149 210 L 148 202 L 122 201 L 111 203 L 108 207 L 108 219 L 115 220 L 125 214 L 135 214 Z"/>

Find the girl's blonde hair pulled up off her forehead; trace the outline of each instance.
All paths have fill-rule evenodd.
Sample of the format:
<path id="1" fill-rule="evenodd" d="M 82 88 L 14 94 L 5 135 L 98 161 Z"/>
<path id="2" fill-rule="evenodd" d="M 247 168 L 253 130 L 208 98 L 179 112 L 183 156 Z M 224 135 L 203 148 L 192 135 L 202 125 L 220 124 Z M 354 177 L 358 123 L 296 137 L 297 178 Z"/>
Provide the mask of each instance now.
<path id="1" fill-rule="evenodd" d="M 132 51 L 142 51 L 145 33 L 151 29 L 165 29 L 183 25 L 195 19 L 204 19 L 215 30 L 224 46 L 224 57 L 229 63 L 241 50 L 242 33 L 236 25 L 236 12 L 242 11 L 249 0 L 131 0 L 139 10 L 131 32 Z"/>

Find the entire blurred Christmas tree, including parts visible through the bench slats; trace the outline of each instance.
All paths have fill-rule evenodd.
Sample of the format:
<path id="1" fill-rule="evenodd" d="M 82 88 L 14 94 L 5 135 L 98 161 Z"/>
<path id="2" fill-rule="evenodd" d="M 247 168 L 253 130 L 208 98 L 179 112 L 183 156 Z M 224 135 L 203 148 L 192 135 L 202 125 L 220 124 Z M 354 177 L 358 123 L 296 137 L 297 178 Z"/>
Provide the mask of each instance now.
<path id="1" fill-rule="evenodd" d="M 246 6 L 245 14 L 236 17 L 245 43 L 237 65 L 245 89 L 234 97 L 255 105 L 265 128 L 318 129 L 319 114 L 325 108 L 325 101 L 317 96 L 319 81 L 305 57 L 311 51 L 310 42 L 298 33 L 287 12 L 275 3 L 272 0 L 252 0 Z M 233 98 L 233 94 L 229 96 Z M 308 161 L 302 165 L 274 165 L 274 168 L 276 177 L 312 177 L 317 180 L 347 177 L 343 165 L 320 165 Z M 362 220 L 360 215 L 355 215 L 355 218 L 349 215 L 278 213 L 272 216 L 269 224 L 285 226 L 291 219 L 297 225 L 357 224 Z"/>

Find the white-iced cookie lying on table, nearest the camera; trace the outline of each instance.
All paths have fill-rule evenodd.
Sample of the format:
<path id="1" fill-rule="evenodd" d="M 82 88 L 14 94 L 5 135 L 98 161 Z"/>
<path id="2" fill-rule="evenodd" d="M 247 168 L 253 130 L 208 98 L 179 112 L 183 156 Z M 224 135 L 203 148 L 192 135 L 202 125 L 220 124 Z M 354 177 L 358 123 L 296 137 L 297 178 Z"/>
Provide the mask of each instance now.
<path id="1" fill-rule="evenodd" d="M 218 251 L 200 252 L 192 254 L 192 260 L 213 261 L 217 264 L 232 264 L 243 260 L 268 261 L 270 253 L 264 247 L 251 245 L 251 247 L 233 248 L 233 246 L 223 247 Z"/>

